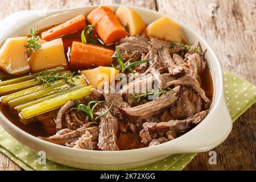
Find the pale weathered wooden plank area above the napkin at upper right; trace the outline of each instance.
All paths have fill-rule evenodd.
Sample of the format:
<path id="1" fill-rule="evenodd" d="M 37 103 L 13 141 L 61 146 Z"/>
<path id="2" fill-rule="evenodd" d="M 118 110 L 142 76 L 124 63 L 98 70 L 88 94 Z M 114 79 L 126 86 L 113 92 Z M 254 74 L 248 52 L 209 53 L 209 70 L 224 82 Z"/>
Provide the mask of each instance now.
<path id="1" fill-rule="evenodd" d="M 199 32 L 216 51 L 224 68 L 256 84 L 255 1 L 157 2 L 160 12 L 179 19 Z M 217 17 L 209 16 L 210 3 L 217 5 Z"/>

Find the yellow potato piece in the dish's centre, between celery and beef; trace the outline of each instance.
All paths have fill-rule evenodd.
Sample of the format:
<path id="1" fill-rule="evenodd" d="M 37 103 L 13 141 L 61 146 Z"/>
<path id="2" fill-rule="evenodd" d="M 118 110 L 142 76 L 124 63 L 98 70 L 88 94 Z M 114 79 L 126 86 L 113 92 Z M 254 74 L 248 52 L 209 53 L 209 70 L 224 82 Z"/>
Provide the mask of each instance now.
<path id="1" fill-rule="evenodd" d="M 96 89 L 101 89 L 104 82 L 111 84 L 115 81 L 115 77 L 119 73 L 118 70 L 111 67 L 97 67 L 90 70 L 81 71 L 89 85 Z"/>

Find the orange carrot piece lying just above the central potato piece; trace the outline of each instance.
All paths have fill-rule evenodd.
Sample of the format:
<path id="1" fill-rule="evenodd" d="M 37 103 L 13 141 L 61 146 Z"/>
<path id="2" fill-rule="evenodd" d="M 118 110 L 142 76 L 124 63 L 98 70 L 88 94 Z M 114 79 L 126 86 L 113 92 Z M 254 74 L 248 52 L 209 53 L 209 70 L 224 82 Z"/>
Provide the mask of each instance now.
<path id="1" fill-rule="evenodd" d="M 112 63 L 112 49 L 73 42 L 69 67 L 77 69 L 90 68 L 93 65 L 104 66 Z"/>

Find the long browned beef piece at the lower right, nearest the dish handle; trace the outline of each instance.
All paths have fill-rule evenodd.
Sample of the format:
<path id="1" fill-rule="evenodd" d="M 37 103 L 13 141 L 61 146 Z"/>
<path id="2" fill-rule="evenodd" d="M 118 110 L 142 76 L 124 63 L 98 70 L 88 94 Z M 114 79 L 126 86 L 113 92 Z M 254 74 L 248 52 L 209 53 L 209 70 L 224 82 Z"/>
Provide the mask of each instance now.
<path id="1" fill-rule="evenodd" d="M 158 137 L 160 135 L 160 137 L 163 137 L 163 134 L 167 134 L 165 137 L 167 137 L 168 140 L 170 140 L 172 138 L 176 138 L 174 135 L 188 131 L 192 125 L 198 125 L 207 116 L 208 112 L 208 110 L 201 111 L 200 113 L 197 113 L 192 117 L 189 117 L 184 120 L 171 120 L 168 122 L 160 123 L 146 122 L 143 124 L 143 130 L 141 130 L 139 135 L 144 143 L 152 142 L 152 136 Z M 167 132 L 169 131 L 171 131 L 172 133 L 174 132 L 174 134 L 171 133 L 171 138 L 168 137 L 170 133 Z M 156 143 L 154 142 L 154 144 Z"/>

